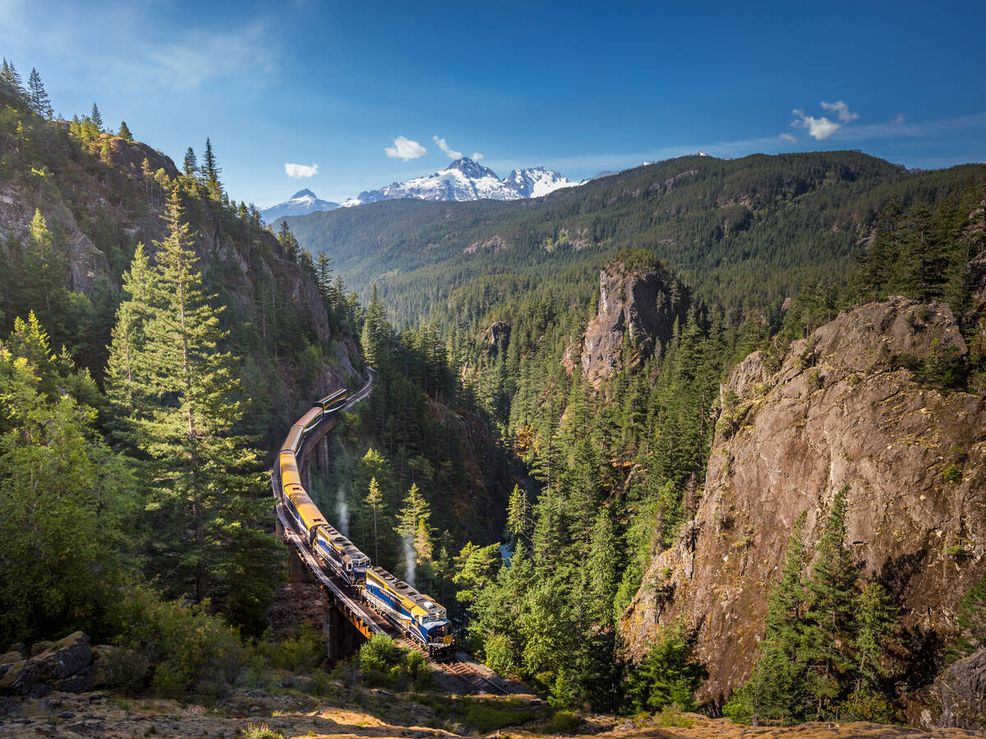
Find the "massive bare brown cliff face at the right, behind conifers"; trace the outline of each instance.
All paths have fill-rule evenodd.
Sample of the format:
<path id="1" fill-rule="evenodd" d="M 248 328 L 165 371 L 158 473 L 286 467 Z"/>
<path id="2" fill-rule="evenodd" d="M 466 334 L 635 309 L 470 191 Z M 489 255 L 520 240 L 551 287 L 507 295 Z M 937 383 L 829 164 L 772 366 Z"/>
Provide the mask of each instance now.
<path id="1" fill-rule="evenodd" d="M 795 519 L 806 512 L 816 541 L 848 485 L 848 540 L 864 574 L 902 605 L 912 655 L 933 654 L 986 571 L 986 399 L 943 394 L 900 367 L 965 352 L 947 306 L 895 298 L 796 342 L 777 372 L 759 354 L 738 365 L 696 516 L 622 618 L 630 653 L 684 620 L 709 670 L 702 697 L 727 695 L 756 659 Z M 915 657 L 917 671 L 937 667 Z"/>

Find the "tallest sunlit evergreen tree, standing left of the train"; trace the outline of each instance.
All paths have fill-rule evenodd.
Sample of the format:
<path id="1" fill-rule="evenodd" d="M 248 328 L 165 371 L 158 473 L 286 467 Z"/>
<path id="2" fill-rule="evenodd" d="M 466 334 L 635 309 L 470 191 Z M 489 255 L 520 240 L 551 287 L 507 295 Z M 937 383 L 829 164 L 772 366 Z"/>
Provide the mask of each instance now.
<path id="1" fill-rule="evenodd" d="M 221 348 L 221 310 L 203 289 L 177 187 L 165 222 L 150 304 L 134 306 L 149 314 L 135 373 L 146 407 L 135 435 L 153 470 L 150 564 L 169 573 L 163 584 L 171 593 L 212 598 L 234 621 L 259 629 L 278 576 L 277 544 L 263 533 L 269 505 L 259 459 L 235 431 L 244 409 L 233 359 Z"/>

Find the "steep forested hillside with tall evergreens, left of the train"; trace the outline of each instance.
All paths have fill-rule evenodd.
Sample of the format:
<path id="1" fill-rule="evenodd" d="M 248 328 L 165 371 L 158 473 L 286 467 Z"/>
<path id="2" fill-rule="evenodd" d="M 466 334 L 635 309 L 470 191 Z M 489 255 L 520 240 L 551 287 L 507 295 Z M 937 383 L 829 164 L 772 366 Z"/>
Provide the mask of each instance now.
<path id="1" fill-rule="evenodd" d="M 284 575 L 269 447 L 365 376 L 353 299 L 196 159 L 0 68 L 2 641 L 85 629 L 168 694 L 245 666 Z"/>

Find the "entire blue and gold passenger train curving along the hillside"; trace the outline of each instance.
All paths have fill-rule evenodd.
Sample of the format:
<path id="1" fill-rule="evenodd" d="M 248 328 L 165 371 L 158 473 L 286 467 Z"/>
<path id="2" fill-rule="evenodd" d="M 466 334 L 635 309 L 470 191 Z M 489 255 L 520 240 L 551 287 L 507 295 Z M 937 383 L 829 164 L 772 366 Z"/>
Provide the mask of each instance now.
<path id="1" fill-rule="evenodd" d="M 329 524 L 301 482 L 298 460 L 305 443 L 315 429 L 345 407 L 348 398 L 343 389 L 316 401 L 284 440 L 276 472 L 288 518 L 326 570 L 342 579 L 358 598 L 430 655 L 449 653 L 454 638 L 445 609 L 382 567 L 373 567 L 369 557 Z"/>

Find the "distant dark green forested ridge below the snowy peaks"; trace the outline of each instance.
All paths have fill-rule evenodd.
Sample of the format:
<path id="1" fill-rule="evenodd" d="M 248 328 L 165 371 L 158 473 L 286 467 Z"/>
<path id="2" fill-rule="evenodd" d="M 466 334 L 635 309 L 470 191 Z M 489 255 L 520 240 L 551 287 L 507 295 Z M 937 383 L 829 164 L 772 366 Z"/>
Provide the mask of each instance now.
<path id="1" fill-rule="evenodd" d="M 935 201 L 974 176 L 858 152 L 691 156 L 530 201 L 395 201 L 288 222 L 359 292 L 376 283 L 399 324 L 472 325 L 534 292 L 584 301 L 622 248 L 650 251 L 735 318 L 844 271 L 892 198 Z"/>

